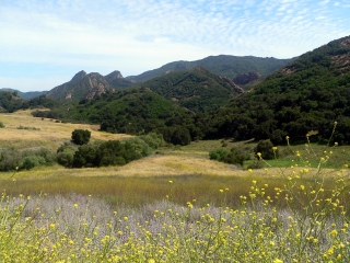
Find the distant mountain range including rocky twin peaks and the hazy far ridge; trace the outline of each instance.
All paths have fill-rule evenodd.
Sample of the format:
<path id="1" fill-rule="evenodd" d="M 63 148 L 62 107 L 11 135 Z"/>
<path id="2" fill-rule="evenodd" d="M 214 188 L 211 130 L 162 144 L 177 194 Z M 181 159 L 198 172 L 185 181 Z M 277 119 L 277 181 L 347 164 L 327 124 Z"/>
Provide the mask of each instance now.
<path id="1" fill-rule="evenodd" d="M 220 77 L 237 81 L 245 85 L 255 80 L 262 80 L 269 73 L 284 66 L 292 59 L 259 58 L 259 57 L 235 57 L 235 56 L 210 56 L 196 61 L 175 61 L 162 66 L 159 69 L 143 72 L 139 76 L 124 78 L 120 71 L 113 71 L 107 76 L 97 72 L 78 72 L 70 81 L 60 84 L 49 92 L 47 96 L 55 100 L 84 100 L 105 93 L 139 85 L 158 77 L 163 79 L 174 78 L 175 72 L 191 72 L 191 69 L 201 67 Z M 215 77 L 217 78 L 217 77 Z M 232 80 L 235 78 L 235 80 Z M 214 85 L 221 85 L 215 83 Z M 176 89 L 176 87 L 174 87 Z M 198 89 L 197 89 L 198 90 Z"/>

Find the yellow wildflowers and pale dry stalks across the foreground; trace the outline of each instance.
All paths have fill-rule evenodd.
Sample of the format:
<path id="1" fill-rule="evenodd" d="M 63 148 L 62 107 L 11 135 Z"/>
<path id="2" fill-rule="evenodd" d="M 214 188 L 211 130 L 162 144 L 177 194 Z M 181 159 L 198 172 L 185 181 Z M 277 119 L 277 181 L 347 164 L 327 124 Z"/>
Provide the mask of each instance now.
<path id="1" fill-rule="evenodd" d="M 113 211 L 92 197 L 2 194 L 0 261 L 347 262 L 343 180 L 323 198 L 327 191 L 317 180 L 299 185 L 300 174 L 291 174 L 284 190 L 273 190 L 275 196 L 266 194 L 269 185 L 253 181 L 237 209 L 163 201 Z M 228 191 L 218 190 L 223 204 Z M 310 202 L 299 203 L 301 195 Z M 282 201 L 290 208 L 278 208 Z"/>

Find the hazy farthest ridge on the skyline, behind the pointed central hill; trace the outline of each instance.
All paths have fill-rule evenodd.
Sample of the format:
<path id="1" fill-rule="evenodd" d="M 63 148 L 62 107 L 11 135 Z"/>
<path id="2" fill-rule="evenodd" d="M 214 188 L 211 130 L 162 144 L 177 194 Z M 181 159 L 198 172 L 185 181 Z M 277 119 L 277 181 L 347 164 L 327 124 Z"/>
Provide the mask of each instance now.
<path id="1" fill-rule="evenodd" d="M 195 67 L 203 67 L 219 76 L 235 78 L 240 73 L 258 72 L 266 77 L 277 69 L 285 66 L 291 59 L 261 58 L 261 57 L 237 57 L 229 55 L 210 56 L 195 61 L 174 61 L 161 68 L 145 71 L 139 76 L 127 77 L 137 83 L 161 77 L 173 71 L 190 70 Z"/>

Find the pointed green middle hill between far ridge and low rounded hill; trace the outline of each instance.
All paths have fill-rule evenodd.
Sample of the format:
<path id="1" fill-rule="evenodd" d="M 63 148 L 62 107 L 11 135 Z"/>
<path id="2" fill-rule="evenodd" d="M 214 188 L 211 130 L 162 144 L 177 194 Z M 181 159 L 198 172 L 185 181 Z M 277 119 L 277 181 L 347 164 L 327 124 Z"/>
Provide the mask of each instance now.
<path id="1" fill-rule="evenodd" d="M 232 82 L 232 81 L 231 81 Z M 244 93 L 240 87 L 202 67 L 171 72 L 142 84 L 192 112 L 208 112 Z"/>

